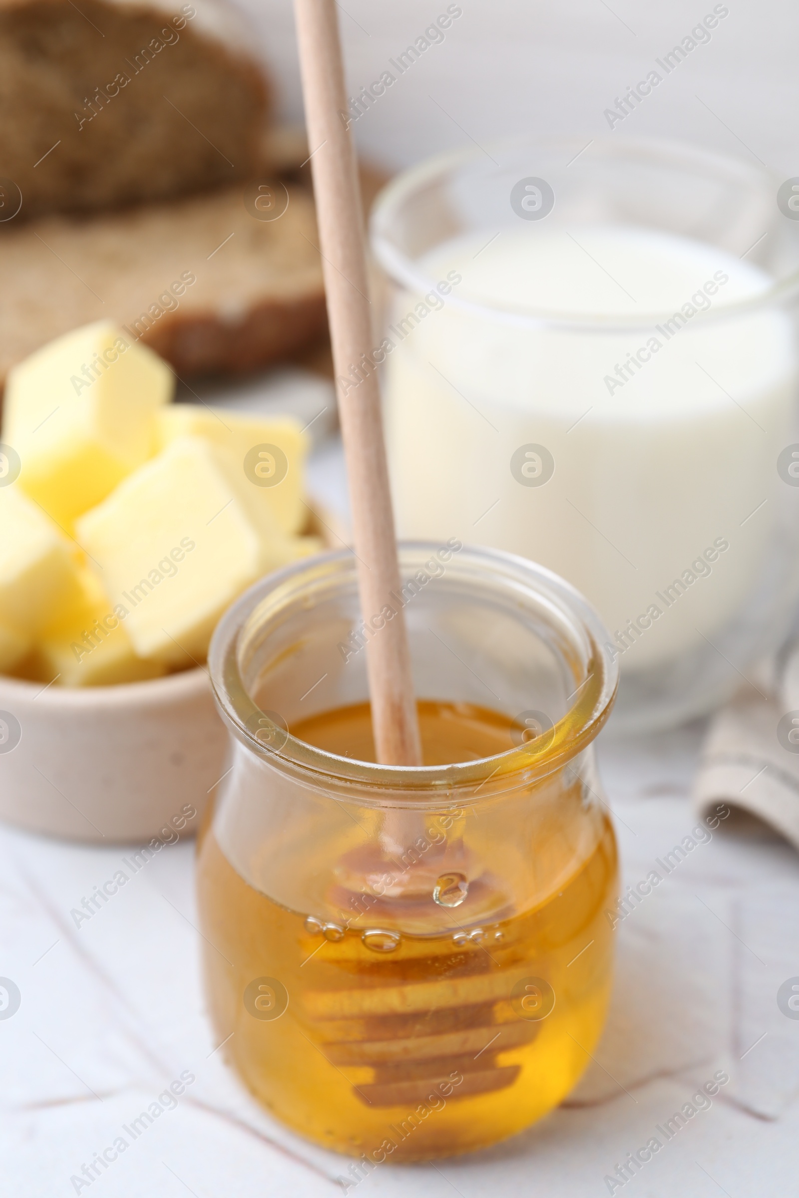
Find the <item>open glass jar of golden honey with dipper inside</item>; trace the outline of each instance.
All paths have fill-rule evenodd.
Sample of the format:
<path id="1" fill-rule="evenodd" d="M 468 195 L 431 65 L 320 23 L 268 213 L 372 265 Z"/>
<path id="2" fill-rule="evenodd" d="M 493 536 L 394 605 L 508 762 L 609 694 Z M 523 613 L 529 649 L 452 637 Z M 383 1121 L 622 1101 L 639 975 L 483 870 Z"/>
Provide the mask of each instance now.
<path id="1" fill-rule="evenodd" d="M 367 623 L 347 550 L 223 617 L 232 757 L 199 843 L 229 1064 L 369 1164 L 483 1148 L 565 1097 L 603 1029 L 617 891 L 593 748 L 617 671 L 595 612 L 455 539 L 400 545 L 400 573 Z M 422 767 L 374 760 L 367 646 L 400 609 Z"/>

